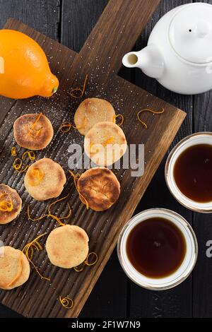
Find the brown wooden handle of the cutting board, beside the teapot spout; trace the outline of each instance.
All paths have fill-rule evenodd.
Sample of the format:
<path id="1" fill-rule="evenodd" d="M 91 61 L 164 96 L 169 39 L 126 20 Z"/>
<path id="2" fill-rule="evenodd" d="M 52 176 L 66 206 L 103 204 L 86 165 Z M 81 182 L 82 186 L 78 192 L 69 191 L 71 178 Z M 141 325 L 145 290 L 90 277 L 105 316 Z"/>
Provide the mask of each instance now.
<path id="1" fill-rule="evenodd" d="M 107 74 L 117 73 L 122 57 L 131 51 L 160 0 L 110 0 L 88 36 L 81 56 L 96 59 L 98 66 L 110 61 Z"/>

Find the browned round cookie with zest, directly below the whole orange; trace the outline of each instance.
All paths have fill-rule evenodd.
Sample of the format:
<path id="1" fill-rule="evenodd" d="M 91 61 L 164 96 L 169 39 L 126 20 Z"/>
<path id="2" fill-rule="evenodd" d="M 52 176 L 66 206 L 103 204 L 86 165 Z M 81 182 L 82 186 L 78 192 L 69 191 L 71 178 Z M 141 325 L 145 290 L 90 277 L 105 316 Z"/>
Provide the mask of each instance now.
<path id="1" fill-rule="evenodd" d="M 53 127 L 42 113 L 24 114 L 13 124 L 13 133 L 18 146 L 30 150 L 42 150 L 52 141 Z"/>

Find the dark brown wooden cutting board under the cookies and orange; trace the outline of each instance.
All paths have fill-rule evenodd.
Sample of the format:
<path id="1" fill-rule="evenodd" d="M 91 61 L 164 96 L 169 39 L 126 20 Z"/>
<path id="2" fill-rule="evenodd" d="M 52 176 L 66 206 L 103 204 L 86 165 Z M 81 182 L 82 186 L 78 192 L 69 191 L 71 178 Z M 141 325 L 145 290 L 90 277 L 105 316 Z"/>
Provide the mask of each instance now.
<path id="1" fill-rule="evenodd" d="M 132 49 L 158 3 L 159 0 L 111 0 L 79 54 L 15 19 L 8 20 L 5 25 L 5 28 L 19 30 L 33 37 L 42 46 L 53 73 L 59 78 L 60 87 L 59 91 L 49 99 L 42 97 L 28 100 L 8 100 L 4 97 L 0 99 L 2 116 L 0 181 L 15 188 L 23 199 L 23 211 L 18 219 L 8 225 L 0 226 L 1 240 L 6 245 L 23 249 L 24 245 L 37 235 L 50 232 L 57 227 L 54 220 L 47 219 L 36 223 L 28 220 L 26 207 L 29 203 L 35 218 L 45 212 L 48 202 L 36 202 L 30 198 L 23 186 L 24 175 L 17 174 L 12 167 L 13 121 L 21 114 L 43 112 L 52 121 L 54 138 L 45 150 L 37 153 L 37 158 L 44 156 L 52 158 L 64 167 L 68 182 L 63 194 L 71 193 L 69 203 L 73 210 L 73 215 L 66 223 L 83 227 L 90 237 L 90 251 L 95 251 L 99 256 L 95 266 L 77 273 L 73 269 L 64 270 L 52 266 L 45 250 L 35 254 L 37 266 L 42 274 L 51 278 L 51 281 L 40 280 L 37 273 L 32 270 L 28 283 L 15 290 L 0 292 L 1 302 L 24 316 L 78 316 L 117 244 L 120 230 L 134 213 L 186 116 L 182 110 L 117 76 L 122 66 L 122 56 Z M 87 73 L 86 94 L 81 100 L 71 98 L 67 90 L 83 85 Z M 83 146 L 83 136 L 74 129 L 69 134 L 59 131 L 61 122 L 70 119 L 73 121 L 76 107 L 86 97 L 102 97 L 112 102 L 116 112 L 124 114 L 122 128 L 128 143 L 145 144 L 143 176 L 131 177 L 131 170 L 114 170 L 121 183 L 122 194 L 119 201 L 103 213 L 86 210 L 79 201 L 73 181 L 69 177 L 69 145 L 80 143 Z M 165 113 L 158 116 L 143 114 L 143 119 L 148 123 L 147 130 L 143 129 L 136 119 L 136 112 L 146 107 L 165 109 Z M 23 153 L 23 149 L 20 149 L 19 153 Z M 61 196 L 64 196 L 63 194 Z M 66 203 L 59 204 L 57 213 L 59 215 L 66 213 Z M 43 242 L 45 243 L 45 239 Z M 62 297 L 69 295 L 74 302 L 73 309 L 64 309 L 59 302 L 59 295 Z"/>

